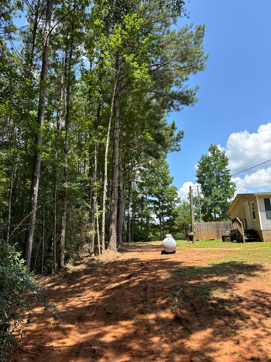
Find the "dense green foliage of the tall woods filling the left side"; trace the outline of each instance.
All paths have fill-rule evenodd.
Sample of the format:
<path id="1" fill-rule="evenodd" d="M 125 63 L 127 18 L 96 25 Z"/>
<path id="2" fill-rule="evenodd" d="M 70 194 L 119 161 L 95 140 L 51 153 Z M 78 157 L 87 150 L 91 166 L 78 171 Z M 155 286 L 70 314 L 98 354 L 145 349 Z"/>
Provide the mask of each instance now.
<path id="1" fill-rule="evenodd" d="M 48 82 L 44 84 L 45 121 L 39 129 L 36 119 L 46 1 L 9 3 L 2 1 L 7 16 L 0 20 L 3 29 L 3 38 L 0 38 L 0 215 L 5 224 L 10 218 L 10 242 L 16 244 L 16 250 L 24 245 L 34 140 L 38 133 L 42 135 L 41 171 L 31 268 L 40 270 L 43 259 L 43 270 L 52 271 L 54 212 L 58 254 L 65 191 L 66 260 L 78 254 L 93 236 L 94 249 L 98 250 L 93 216 L 98 217 L 101 229 L 105 144 L 116 76 L 126 229 L 131 180 L 134 184 L 130 199 L 134 240 L 156 237 L 157 231 L 160 234 L 160 220 L 164 233 L 172 232 L 178 199 L 165 159 L 169 152 L 180 151 L 184 132 L 167 119 L 172 110 L 197 101 L 198 86 L 189 88 L 188 81 L 190 75 L 203 71 L 206 66 L 205 26 L 185 25 L 178 30 L 172 26 L 178 16 L 186 14 L 182 0 L 55 3 L 49 39 Z M 13 22 L 21 12 L 27 24 L 16 29 Z M 5 29 L 14 30 L 9 37 L 18 43 L 16 49 L 10 41 L 5 43 Z M 71 98 L 69 129 L 66 130 L 68 79 Z M 114 107 L 115 104 L 113 113 Z M 108 170 L 112 168 L 114 122 L 113 117 Z M 64 154 L 66 132 L 68 152 Z M 64 167 L 67 167 L 67 181 Z M 106 233 L 111 177 L 108 171 Z M 93 208 L 95 193 L 98 210 Z M 125 232 L 123 239 L 124 235 Z M 57 260 L 56 256 L 56 264 Z"/>

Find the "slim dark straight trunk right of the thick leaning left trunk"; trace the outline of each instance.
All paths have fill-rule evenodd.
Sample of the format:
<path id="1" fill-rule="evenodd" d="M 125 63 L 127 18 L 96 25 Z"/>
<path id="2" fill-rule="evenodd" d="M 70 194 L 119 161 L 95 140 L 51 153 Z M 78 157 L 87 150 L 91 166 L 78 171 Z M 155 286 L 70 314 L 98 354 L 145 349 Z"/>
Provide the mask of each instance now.
<path id="1" fill-rule="evenodd" d="M 75 11 L 75 2 L 73 10 L 73 19 Z M 69 128 L 70 128 L 70 83 L 72 76 L 72 57 L 73 57 L 73 27 L 74 20 L 72 21 L 72 31 L 70 34 L 70 55 L 69 55 L 69 71 L 68 71 L 68 83 L 67 83 L 67 109 L 65 119 L 65 144 L 64 144 L 64 155 L 65 155 L 65 166 L 64 166 L 64 193 L 63 193 L 63 207 L 62 207 L 62 218 L 61 218 L 61 232 L 60 232 L 60 248 L 59 248 L 59 267 L 64 268 L 64 255 L 65 255 L 65 233 L 66 233 L 66 213 L 67 213 L 67 183 L 68 183 L 68 151 L 69 151 Z"/>

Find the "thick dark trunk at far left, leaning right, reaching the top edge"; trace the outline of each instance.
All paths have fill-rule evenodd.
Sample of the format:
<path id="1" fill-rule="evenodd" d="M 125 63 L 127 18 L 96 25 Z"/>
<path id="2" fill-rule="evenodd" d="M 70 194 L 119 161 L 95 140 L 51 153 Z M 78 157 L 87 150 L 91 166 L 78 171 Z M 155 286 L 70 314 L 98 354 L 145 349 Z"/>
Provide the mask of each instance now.
<path id="1" fill-rule="evenodd" d="M 49 55 L 49 33 L 51 27 L 51 15 L 52 15 L 52 0 L 47 0 L 46 10 L 46 21 L 44 27 L 44 40 L 42 50 L 42 70 L 40 73 L 40 91 L 39 91 L 39 107 L 37 126 L 38 131 L 35 135 L 35 151 L 34 151 L 34 163 L 33 173 L 31 179 L 31 189 L 29 198 L 29 217 L 26 227 L 25 236 L 25 247 L 23 249 L 23 258 L 25 259 L 26 265 L 30 267 L 32 245 L 34 238 L 34 229 L 36 222 L 36 207 L 38 201 L 38 190 L 39 190 L 39 174 L 40 174 L 40 163 L 41 163 L 41 146 L 42 146 L 42 134 L 41 130 L 44 123 L 45 114 L 45 100 L 46 100 L 46 80 L 48 73 L 48 55 Z"/>

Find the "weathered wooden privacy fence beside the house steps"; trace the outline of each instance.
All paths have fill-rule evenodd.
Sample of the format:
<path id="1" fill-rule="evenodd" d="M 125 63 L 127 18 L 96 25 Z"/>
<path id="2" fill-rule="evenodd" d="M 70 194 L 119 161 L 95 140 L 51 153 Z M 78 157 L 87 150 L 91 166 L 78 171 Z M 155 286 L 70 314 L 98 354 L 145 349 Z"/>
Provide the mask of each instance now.
<path id="1" fill-rule="evenodd" d="M 221 239 L 222 235 L 226 235 L 225 231 L 232 230 L 231 221 L 214 221 L 207 223 L 195 223 L 195 239 L 210 240 Z"/>

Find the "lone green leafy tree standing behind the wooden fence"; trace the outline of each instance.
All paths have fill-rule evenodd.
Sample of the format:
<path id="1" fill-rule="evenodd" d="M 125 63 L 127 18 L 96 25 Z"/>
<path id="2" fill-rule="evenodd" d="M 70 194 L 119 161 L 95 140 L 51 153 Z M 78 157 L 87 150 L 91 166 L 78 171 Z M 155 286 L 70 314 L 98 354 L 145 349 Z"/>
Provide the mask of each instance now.
<path id="1" fill-rule="evenodd" d="M 203 220 L 229 220 L 230 200 L 236 190 L 235 183 L 231 181 L 231 171 L 227 168 L 229 159 L 214 144 L 208 151 L 208 155 L 201 156 L 196 172 L 196 181 L 201 185 L 203 195 Z"/>

